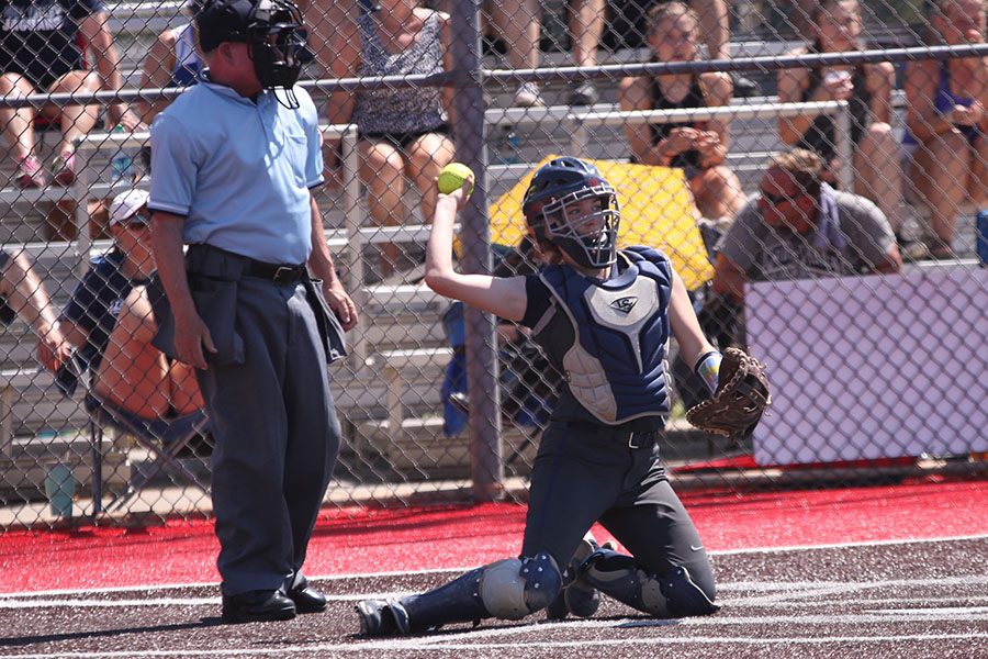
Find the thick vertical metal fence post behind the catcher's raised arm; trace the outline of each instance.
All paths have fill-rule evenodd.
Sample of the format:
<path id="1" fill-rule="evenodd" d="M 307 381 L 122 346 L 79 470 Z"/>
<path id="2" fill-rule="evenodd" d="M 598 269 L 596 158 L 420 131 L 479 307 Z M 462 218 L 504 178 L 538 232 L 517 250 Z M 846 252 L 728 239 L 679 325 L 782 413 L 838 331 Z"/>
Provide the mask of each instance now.
<path id="1" fill-rule="evenodd" d="M 464 272 L 492 270 L 487 219 L 487 148 L 484 143 L 484 91 L 481 70 L 481 0 L 454 3 L 450 15 L 453 62 L 459 72 L 453 132 L 457 157 L 476 177 L 473 196 L 461 213 L 460 266 Z M 467 382 L 470 389 L 470 474 L 473 495 L 498 499 L 504 491 L 501 413 L 494 317 L 467 308 Z"/>

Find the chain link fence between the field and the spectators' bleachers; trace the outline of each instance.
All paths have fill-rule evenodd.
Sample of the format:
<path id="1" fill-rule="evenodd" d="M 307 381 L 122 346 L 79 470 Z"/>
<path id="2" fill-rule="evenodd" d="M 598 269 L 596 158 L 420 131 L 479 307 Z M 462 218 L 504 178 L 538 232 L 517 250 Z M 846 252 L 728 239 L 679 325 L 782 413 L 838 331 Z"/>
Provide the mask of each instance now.
<path id="1" fill-rule="evenodd" d="M 459 160 L 461 267 L 531 271 L 521 194 L 562 154 L 615 185 L 621 243 L 670 254 L 708 336 L 770 366 L 774 405 L 734 444 L 688 427 L 703 390 L 671 359 L 677 487 L 985 474 L 981 2 L 343 4 L 303 7 L 315 194 L 362 314 L 330 367 L 327 505 L 524 495 L 564 379 L 429 291 L 424 246 Z M 207 420 L 149 344 L 142 197 L 117 197 L 148 188 L 147 125 L 199 75 L 192 11 L 3 9 L 0 528 L 210 514 Z"/>

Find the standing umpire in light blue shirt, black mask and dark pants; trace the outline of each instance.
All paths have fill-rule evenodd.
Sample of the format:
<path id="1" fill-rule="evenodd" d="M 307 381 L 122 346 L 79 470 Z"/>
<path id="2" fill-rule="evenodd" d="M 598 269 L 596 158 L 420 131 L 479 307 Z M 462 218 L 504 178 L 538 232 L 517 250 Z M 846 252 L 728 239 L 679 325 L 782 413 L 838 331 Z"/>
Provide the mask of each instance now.
<path id="1" fill-rule="evenodd" d="M 315 107 L 295 87 L 297 7 L 209 0 L 195 21 L 209 69 L 151 127 L 148 206 L 170 306 L 156 310 L 156 345 L 198 369 L 216 439 L 223 619 L 289 619 L 326 607 L 301 570 L 339 450 L 325 365 L 357 310 L 310 193 L 323 159 Z"/>

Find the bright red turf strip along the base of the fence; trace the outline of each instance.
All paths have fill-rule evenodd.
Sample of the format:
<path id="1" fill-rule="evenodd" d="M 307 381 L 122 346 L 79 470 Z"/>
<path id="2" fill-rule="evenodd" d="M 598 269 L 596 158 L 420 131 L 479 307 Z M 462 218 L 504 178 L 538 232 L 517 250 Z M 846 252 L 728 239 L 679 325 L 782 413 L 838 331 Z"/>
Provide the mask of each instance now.
<path id="1" fill-rule="evenodd" d="M 683 500 L 715 551 L 988 534 L 986 481 Z M 514 504 L 337 512 L 319 521 L 305 569 L 325 576 L 482 565 L 516 555 L 524 524 L 525 507 Z M 0 592 L 216 582 L 216 550 L 207 522 L 8 533 L 0 536 Z"/>

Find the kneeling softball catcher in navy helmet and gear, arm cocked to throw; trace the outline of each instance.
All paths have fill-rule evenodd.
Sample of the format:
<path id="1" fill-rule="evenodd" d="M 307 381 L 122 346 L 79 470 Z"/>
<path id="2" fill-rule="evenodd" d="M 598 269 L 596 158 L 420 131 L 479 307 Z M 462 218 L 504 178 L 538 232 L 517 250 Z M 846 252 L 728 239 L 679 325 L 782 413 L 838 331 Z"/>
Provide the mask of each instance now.
<path id="1" fill-rule="evenodd" d="M 540 270 L 461 275 L 453 269 L 452 227 L 470 188 L 439 196 L 426 283 L 530 327 L 565 382 L 531 472 L 520 556 L 426 593 L 363 600 L 361 634 L 519 619 L 547 607 L 553 618 L 588 616 L 599 591 L 660 618 L 715 613 L 710 560 L 659 456 L 670 410 L 670 332 L 711 391 L 721 362 L 683 281 L 655 249 L 616 249 L 617 194 L 595 167 L 570 157 L 541 167 L 525 196 Z M 595 522 L 632 555 L 584 539 Z"/>

